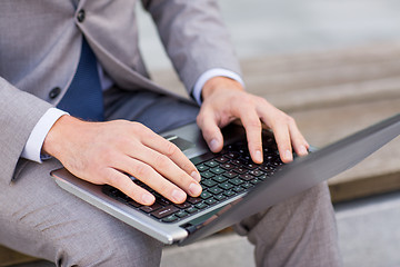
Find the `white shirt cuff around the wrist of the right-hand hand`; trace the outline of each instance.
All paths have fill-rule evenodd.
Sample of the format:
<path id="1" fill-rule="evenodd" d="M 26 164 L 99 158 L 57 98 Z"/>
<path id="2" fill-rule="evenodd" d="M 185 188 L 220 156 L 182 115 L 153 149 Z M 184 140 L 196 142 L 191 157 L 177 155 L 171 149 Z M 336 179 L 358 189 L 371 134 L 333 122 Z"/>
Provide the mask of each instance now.
<path id="1" fill-rule="evenodd" d="M 202 102 L 201 101 L 201 91 L 202 91 L 202 88 L 204 87 L 206 82 L 209 79 L 219 77 L 219 76 L 236 80 L 236 81 L 240 82 L 242 85 L 242 87 L 244 87 L 244 81 L 238 73 L 227 70 L 227 69 L 221 69 L 221 68 L 209 69 L 199 77 L 199 79 L 194 83 L 194 88 L 192 91 L 192 96 L 199 105 L 201 105 L 201 102 Z"/>

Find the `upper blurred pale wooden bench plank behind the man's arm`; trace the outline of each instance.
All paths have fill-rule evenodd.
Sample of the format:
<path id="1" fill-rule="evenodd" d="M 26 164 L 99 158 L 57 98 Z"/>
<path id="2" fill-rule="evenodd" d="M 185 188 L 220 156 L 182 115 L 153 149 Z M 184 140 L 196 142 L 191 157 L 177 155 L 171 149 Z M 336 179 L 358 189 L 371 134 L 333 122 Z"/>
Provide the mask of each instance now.
<path id="1" fill-rule="evenodd" d="M 376 98 L 397 90 L 400 77 L 400 42 L 309 53 L 264 56 L 241 62 L 247 89 L 284 110 L 367 96 Z M 172 70 L 152 73 L 160 85 L 186 95 Z M 339 91 L 338 91 L 339 90 Z M 384 90 L 384 93 L 382 93 Z M 379 93 L 379 92 L 380 93 Z M 302 93 L 304 92 L 304 93 Z M 332 96 L 333 95 L 333 96 Z M 366 98 L 366 97 L 363 97 Z M 300 105 L 302 103 L 302 105 Z M 314 105 L 311 105 L 314 106 Z"/>

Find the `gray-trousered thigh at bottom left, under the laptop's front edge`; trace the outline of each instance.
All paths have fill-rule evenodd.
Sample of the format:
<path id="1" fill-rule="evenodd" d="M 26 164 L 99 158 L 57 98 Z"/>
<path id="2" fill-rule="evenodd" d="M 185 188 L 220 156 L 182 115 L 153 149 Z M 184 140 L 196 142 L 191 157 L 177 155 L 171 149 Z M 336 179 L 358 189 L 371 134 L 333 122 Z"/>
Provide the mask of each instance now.
<path id="1" fill-rule="evenodd" d="M 0 243 L 59 266 L 158 266 L 161 244 L 59 188 L 57 160 L 2 185 Z"/>

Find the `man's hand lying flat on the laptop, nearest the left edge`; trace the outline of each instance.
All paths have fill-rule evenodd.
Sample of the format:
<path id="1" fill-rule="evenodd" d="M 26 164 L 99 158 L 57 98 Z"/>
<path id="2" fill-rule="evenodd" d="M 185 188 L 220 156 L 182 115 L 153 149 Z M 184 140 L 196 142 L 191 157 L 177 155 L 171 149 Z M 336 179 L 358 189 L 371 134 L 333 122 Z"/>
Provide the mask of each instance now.
<path id="1" fill-rule="evenodd" d="M 172 142 L 138 122 L 86 122 L 62 116 L 48 134 L 43 151 L 77 177 L 113 186 L 143 205 L 153 204 L 154 196 L 128 175 L 177 204 L 186 200 L 186 194 L 201 194 L 193 164 Z"/>

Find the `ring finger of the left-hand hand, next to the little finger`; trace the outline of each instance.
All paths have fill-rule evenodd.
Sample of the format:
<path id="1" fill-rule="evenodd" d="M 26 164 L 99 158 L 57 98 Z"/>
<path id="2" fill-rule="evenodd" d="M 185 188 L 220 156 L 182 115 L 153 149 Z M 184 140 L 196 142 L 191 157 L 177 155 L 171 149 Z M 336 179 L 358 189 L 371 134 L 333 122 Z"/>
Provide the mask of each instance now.
<path id="1" fill-rule="evenodd" d="M 171 201 L 181 204 L 186 200 L 186 192 L 158 174 L 151 166 L 130 157 L 124 157 L 113 164 L 117 169 L 133 176 Z"/>

